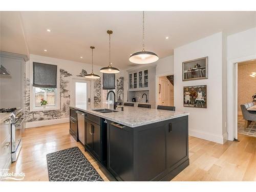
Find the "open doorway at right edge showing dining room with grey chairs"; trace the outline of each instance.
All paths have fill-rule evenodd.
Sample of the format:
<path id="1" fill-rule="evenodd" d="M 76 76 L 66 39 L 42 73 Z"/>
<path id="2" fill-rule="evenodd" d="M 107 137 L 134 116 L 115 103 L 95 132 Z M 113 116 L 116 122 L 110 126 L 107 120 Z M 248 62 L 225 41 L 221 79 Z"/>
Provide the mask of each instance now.
<path id="1" fill-rule="evenodd" d="M 256 137 L 256 60 L 237 63 L 237 133 Z"/>

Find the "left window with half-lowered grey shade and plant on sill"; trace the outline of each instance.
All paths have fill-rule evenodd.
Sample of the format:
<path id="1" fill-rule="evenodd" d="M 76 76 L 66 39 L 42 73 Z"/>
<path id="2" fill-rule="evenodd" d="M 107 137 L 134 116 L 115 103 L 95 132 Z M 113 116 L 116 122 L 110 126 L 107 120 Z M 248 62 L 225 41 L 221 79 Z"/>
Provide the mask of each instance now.
<path id="1" fill-rule="evenodd" d="M 33 82 L 31 83 L 30 111 L 58 110 L 60 103 L 57 66 L 31 62 L 31 68 Z M 41 99 L 47 101 L 45 107 L 41 106 Z"/>

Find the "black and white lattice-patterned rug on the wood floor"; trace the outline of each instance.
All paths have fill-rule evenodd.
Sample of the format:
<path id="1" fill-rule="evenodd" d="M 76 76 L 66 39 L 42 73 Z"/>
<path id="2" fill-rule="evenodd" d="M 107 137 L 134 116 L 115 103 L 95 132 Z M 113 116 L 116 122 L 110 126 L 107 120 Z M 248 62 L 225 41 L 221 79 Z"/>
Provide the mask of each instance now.
<path id="1" fill-rule="evenodd" d="M 46 155 L 49 181 L 103 181 L 78 147 Z"/>

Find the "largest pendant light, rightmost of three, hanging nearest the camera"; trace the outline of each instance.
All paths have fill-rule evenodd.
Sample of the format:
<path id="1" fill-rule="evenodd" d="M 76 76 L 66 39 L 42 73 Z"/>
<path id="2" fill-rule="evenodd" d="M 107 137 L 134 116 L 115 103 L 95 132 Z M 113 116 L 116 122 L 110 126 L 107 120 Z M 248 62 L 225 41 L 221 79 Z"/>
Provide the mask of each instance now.
<path id="1" fill-rule="evenodd" d="M 129 60 L 136 64 L 147 64 L 156 62 L 159 59 L 156 53 L 145 51 L 145 44 L 144 44 L 144 11 L 143 11 L 143 49 L 142 51 L 136 52 L 132 54 Z"/>

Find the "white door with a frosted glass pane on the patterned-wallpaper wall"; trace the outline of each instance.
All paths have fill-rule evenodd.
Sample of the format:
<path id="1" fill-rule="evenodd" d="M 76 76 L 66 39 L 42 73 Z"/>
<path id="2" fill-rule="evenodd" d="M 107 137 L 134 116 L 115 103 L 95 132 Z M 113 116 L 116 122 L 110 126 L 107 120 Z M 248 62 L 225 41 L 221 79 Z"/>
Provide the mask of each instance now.
<path id="1" fill-rule="evenodd" d="M 87 108 L 91 104 L 91 81 L 84 77 L 75 77 L 71 80 L 70 103 L 72 106 Z"/>

